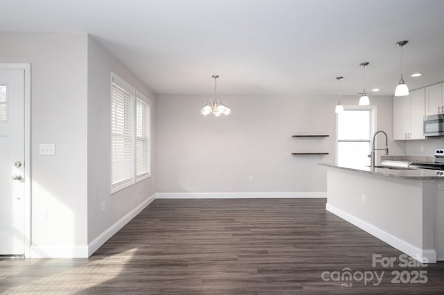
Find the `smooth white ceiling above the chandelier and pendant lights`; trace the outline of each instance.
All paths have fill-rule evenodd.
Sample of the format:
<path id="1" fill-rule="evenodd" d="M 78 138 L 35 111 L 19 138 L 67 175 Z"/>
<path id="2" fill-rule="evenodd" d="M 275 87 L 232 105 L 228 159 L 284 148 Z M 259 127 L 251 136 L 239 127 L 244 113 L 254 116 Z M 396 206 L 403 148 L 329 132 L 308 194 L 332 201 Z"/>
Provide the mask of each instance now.
<path id="1" fill-rule="evenodd" d="M 89 33 L 155 93 L 393 95 L 444 80 L 443 0 L 0 0 L 0 31 Z M 413 72 L 424 73 L 411 78 Z"/>

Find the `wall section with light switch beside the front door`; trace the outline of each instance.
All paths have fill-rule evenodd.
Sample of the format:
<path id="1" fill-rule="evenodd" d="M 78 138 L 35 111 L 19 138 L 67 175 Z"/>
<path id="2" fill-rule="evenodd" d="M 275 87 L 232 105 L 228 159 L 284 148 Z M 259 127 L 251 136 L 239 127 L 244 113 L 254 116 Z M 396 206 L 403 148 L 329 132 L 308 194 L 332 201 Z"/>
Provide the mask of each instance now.
<path id="1" fill-rule="evenodd" d="M 0 39 L 0 62 L 31 63 L 33 255 L 64 256 L 87 244 L 87 35 Z M 41 156 L 40 143 L 56 155 Z"/>

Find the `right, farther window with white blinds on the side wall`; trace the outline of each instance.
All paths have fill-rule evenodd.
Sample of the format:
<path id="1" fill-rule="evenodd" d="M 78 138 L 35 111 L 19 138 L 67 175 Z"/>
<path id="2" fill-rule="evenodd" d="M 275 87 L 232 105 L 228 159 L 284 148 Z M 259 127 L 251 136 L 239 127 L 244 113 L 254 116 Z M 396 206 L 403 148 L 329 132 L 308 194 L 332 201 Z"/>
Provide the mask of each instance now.
<path id="1" fill-rule="evenodd" d="M 148 98 L 137 93 L 136 99 L 136 179 L 151 175 L 151 105 Z"/>

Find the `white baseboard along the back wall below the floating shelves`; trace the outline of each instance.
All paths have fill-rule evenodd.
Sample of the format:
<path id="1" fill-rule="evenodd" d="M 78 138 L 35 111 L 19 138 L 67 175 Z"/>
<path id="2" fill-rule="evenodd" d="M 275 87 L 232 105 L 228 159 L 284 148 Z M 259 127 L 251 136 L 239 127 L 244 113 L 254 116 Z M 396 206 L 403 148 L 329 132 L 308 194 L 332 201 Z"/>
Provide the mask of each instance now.
<path id="1" fill-rule="evenodd" d="M 327 193 L 156 193 L 156 199 L 326 198 Z"/>

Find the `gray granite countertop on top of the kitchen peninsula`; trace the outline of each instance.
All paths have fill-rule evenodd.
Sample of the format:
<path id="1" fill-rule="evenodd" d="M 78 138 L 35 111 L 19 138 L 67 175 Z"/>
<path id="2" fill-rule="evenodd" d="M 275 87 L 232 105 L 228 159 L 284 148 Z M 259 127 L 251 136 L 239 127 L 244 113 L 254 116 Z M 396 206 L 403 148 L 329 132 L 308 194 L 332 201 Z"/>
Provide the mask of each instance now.
<path id="1" fill-rule="evenodd" d="M 436 170 L 429 169 L 389 169 L 389 168 L 370 168 L 367 166 L 337 166 L 332 163 L 318 163 L 318 165 L 330 167 L 330 168 L 339 168 L 344 170 L 357 171 L 361 173 L 367 173 L 372 175 L 381 175 L 386 177 L 394 177 L 400 179 L 418 179 L 418 180 L 427 180 L 427 179 L 443 179 L 444 175 L 437 175 Z"/>

